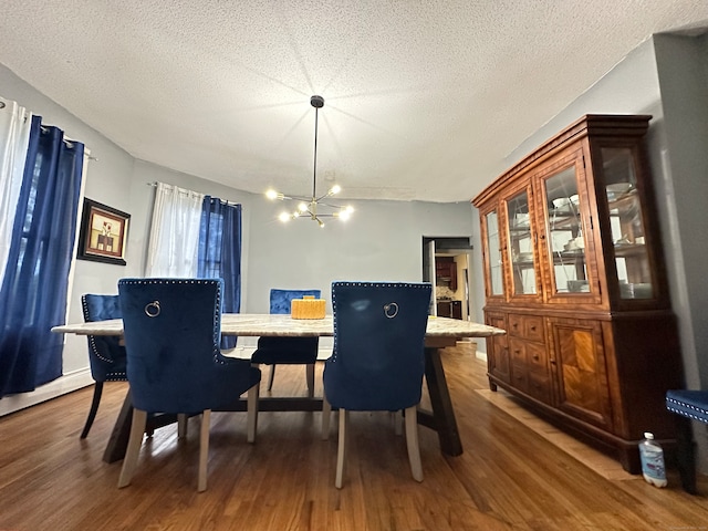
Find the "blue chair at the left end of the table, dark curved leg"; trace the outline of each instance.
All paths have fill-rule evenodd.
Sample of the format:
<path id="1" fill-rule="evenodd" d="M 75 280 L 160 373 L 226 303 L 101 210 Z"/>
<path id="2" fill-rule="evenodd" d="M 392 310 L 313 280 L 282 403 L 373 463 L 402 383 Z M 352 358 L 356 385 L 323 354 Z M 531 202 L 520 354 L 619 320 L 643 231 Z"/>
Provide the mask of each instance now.
<path id="1" fill-rule="evenodd" d="M 81 308 L 84 321 L 106 321 L 121 319 L 118 295 L 98 295 L 86 293 L 81 298 Z M 104 382 L 126 382 L 125 374 L 125 347 L 121 345 L 119 337 L 110 335 L 88 335 L 88 364 L 91 376 L 94 379 L 93 399 L 91 409 L 81 431 L 81 438 L 88 436 L 91 426 L 96 418 Z"/>

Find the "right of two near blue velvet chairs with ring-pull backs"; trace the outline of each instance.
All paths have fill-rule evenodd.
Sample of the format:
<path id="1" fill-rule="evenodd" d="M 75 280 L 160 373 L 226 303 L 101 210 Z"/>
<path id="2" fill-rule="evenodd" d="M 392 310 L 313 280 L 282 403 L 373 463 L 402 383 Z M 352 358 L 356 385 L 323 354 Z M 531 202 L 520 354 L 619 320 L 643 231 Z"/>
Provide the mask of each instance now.
<path id="1" fill-rule="evenodd" d="M 423 481 L 416 406 L 423 393 L 431 285 L 334 282 L 334 351 L 324 365 L 322 437 L 340 412 L 335 487 L 342 488 L 348 412 L 404 410 L 410 471 Z"/>

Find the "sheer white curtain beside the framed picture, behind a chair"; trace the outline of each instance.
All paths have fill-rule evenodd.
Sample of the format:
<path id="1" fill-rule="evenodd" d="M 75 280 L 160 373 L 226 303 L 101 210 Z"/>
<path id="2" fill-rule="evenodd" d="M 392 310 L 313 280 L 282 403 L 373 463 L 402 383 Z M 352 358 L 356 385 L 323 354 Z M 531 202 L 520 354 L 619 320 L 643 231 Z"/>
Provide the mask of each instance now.
<path id="1" fill-rule="evenodd" d="M 145 277 L 196 277 L 204 194 L 157 183 Z"/>

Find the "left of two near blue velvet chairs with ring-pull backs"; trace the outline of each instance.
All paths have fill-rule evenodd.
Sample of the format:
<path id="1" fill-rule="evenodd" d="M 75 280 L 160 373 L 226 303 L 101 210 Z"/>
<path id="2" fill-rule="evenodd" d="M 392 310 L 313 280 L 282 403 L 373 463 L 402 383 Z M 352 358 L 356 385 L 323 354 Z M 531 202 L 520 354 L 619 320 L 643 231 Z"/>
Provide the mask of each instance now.
<path id="1" fill-rule="evenodd" d="M 133 423 L 118 487 L 131 483 L 150 413 L 201 414 L 197 490 L 207 488 L 212 409 L 232 407 L 248 392 L 248 440 L 256 438 L 261 373 L 219 350 L 220 279 L 118 281 Z"/>

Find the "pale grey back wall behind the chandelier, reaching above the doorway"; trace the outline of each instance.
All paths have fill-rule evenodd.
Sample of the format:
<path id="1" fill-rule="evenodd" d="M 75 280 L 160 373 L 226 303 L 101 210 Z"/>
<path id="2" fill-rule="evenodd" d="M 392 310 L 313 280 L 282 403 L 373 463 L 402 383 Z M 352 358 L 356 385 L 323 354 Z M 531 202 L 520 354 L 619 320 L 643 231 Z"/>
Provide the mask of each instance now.
<path id="1" fill-rule="evenodd" d="M 356 209 L 353 218 L 321 229 L 310 219 L 283 225 L 275 219 L 283 204 L 259 200 L 251 214 L 249 312 L 268 313 L 271 288 L 320 289 L 329 300 L 334 280 L 420 281 L 424 236 L 471 235 L 467 201 L 346 204 Z"/>

